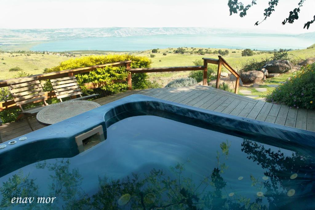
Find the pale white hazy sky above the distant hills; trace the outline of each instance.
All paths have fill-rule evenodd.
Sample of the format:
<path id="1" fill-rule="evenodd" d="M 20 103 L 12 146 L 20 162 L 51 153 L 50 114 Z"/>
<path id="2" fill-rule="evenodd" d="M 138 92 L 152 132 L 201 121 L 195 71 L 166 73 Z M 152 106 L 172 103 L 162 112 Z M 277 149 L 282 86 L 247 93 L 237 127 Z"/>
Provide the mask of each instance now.
<path id="1" fill-rule="evenodd" d="M 268 0 L 259 0 L 245 18 L 229 16 L 228 0 L 0 0 L 0 28 L 212 27 L 313 32 L 315 23 L 309 30 L 303 26 L 315 15 L 315 0 L 306 0 L 294 24 L 281 25 L 299 1 L 280 1 L 267 21 L 254 26 L 263 19 Z"/>

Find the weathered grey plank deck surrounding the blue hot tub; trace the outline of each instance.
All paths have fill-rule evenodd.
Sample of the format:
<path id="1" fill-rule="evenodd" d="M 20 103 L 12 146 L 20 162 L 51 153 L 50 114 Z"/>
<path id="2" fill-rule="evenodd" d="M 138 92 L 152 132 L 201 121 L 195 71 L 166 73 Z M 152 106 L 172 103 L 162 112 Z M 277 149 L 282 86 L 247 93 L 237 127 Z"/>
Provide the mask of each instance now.
<path id="1" fill-rule="evenodd" d="M 104 105 L 131 94 L 143 94 L 226 114 L 315 131 L 315 111 L 258 101 L 209 86 L 131 90 L 94 101 Z M 35 118 L 31 119 L 31 124 L 34 129 L 44 127 Z M 7 141 L 31 132 L 31 128 L 25 120 L 21 120 L 3 124 L 0 131 L 4 141 Z"/>

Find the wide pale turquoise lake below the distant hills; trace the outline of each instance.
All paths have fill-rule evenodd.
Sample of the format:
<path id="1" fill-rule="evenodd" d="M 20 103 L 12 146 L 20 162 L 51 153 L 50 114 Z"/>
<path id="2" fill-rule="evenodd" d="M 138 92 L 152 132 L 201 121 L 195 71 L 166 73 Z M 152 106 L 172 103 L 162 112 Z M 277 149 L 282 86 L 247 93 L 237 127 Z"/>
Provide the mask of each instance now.
<path id="1" fill-rule="evenodd" d="M 302 49 L 315 43 L 314 39 L 275 34 L 207 34 L 151 35 L 127 37 L 95 37 L 61 40 L 33 46 L 33 51 L 109 50 L 138 51 L 152 48 L 230 48 L 230 49 Z"/>

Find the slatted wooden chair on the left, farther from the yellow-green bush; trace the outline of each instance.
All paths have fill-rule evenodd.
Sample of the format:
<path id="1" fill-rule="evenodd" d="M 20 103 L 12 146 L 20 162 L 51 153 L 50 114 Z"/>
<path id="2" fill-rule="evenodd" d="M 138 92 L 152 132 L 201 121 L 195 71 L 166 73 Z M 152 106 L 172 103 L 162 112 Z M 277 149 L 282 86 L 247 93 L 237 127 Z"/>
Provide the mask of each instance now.
<path id="1" fill-rule="evenodd" d="M 35 116 L 39 111 L 41 111 L 44 106 L 48 105 L 46 102 L 46 96 L 43 92 L 42 85 L 40 84 L 37 77 L 27 77 L 22 79 L 14 79 L 7 81 L 8 88 L 12 97 L 14 99 L 15 104 L 20 107 L 21 115 L 17 118 L 26 118 L 27 123 L 34 131 L 31 126 L 31 123 L 28 120 L 28 117 Z M 22 105 L 35 103 L 43 101 L 42 106 L 37 106 L 31 109 L 24 110 Z"/>

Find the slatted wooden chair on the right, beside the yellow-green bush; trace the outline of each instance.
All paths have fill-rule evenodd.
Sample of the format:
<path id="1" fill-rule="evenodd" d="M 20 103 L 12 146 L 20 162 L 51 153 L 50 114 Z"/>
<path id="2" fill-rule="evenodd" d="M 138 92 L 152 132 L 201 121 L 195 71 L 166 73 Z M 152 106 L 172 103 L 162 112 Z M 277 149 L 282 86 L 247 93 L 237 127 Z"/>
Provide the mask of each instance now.
<path id="1" fill-rule="evenodd" d="M 93 94 L 93 95 L 87 95 L 87 96 L 82 96 L 82 90 L 77 82 L 77 79 L 75 76 L 72 77 L 64 77 L 64 78 L 59 78 L 59 79 L 51 79 L 50 80 L 54 92 L 57 96 L 57 99 L 62 102 L 63 98 L 70 97 L 70 96 L 77 96 L 79 95 L 80 97 L 71 99 L 71 100 L 83 100 L 83 99 L 88 99 L 95 97 L 99 94 Z"/>

